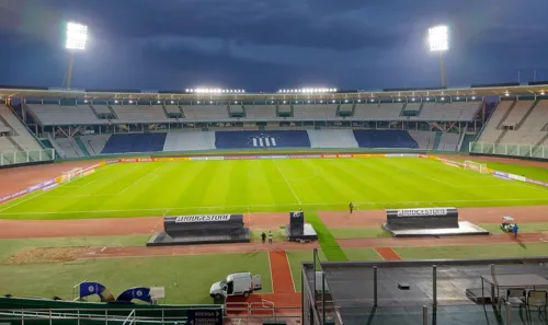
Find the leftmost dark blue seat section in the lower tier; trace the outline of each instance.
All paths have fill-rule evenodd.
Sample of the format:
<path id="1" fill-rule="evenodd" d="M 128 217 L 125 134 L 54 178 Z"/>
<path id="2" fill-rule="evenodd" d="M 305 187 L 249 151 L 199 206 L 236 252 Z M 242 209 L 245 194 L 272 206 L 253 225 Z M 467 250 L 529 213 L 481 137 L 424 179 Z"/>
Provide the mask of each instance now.
<path id="1" fill-rule="evenodd" d="M 113 135 L 101 153 L 162 151 L 168 134 Z"/>

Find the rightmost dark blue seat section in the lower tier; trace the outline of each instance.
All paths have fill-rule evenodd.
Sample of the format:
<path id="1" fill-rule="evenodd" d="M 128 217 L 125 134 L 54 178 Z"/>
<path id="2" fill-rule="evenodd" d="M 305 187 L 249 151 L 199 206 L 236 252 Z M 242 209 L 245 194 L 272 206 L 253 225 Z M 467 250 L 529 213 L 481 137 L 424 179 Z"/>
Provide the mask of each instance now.
<path id="1" fill-rule="evenodd" d="M 419 143 L 403 130 L 354 130 L 359 148 L 419 148 Z"/>

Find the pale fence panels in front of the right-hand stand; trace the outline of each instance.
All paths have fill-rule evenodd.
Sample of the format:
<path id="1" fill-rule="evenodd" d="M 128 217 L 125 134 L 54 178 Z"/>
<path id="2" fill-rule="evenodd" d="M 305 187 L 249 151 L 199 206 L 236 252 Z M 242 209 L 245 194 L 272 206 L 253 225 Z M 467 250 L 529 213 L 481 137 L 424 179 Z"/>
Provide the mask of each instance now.
<path id="1" fill-rule="evenodd" d="M 548 159 L 548 147 L 546 146 L 503 144 L 491 142 L 470 142 L 469 146 L 470 153 Z"/>

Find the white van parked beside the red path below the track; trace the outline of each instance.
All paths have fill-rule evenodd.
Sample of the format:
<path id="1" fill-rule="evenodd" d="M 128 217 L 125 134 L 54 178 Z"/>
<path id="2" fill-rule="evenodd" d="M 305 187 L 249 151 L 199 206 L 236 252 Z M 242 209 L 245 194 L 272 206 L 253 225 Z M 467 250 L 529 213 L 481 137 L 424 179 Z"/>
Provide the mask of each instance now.
<path id="1" fill-rule="evenodd" d="M 253 291 L 261 289 L 261 276 L 251 276 L 251 272 L 239 272 L 228 275 L 226 280 L 213 283 L 209 295 L 216 300 L 220 300 L 222 297 L 249 297 Z"/>

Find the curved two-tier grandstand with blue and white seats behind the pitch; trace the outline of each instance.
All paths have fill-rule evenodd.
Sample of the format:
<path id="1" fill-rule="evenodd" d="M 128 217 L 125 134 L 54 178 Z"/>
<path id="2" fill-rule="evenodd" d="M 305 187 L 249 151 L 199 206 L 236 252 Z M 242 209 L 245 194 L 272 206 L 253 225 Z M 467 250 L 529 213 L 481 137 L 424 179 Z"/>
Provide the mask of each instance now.
<path id="1" fill-rule="evenodd" d="M 543 89 L 487 85 L 330 94 L 0 90 L 0 95 L 18 93 L 22 100 L 14 109 L 2 105 L 0 150 L 39 150 L 37 137 L 62 158 L 253 147 L 455 152 L 480 130 L 478 141 L 483 143 L 544 146 L 548 100 Z M 514 95 L 506 95 L 509 91 Z M 483 125 L 484 96 L 492 94 L 500 101 Z M 276 134 L 282 130 L 295 132 Z"/>

